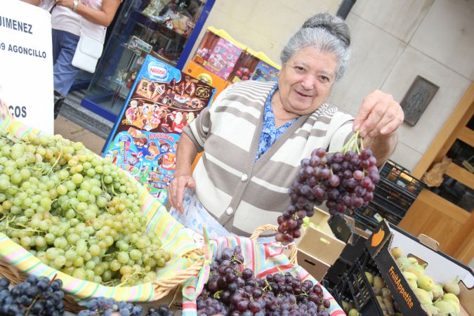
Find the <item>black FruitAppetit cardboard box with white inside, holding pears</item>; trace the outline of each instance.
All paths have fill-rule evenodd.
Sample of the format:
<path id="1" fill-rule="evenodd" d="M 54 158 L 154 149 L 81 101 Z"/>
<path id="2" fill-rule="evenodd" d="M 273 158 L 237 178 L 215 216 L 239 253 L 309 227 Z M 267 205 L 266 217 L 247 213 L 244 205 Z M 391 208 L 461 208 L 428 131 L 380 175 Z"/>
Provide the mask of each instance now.
<path id="1" fill-rule="evenodd" d="M 390 253 L 390 249 L 396 246 L 400 247 L 405 255 L 414 255 L 428 263 L 425 269 L 426 275 L 433 278 L 435 282 L 445 283 L 459 276 L 465 286 L 465 291 L 459 296 L 459 301 L 468 313 L 467 315 L 474 315 L 473 270 L 447 254 L 437 251 L 437 242 L 433 239 L 426 236 L 414 237 L 383 220 L 378 231 L 367 239 L 366 245 L 403 315 L 422 316 L 428 315 L 428 312 L 424 310 L 414 291 L 409 287 L 402 270 Z"/>

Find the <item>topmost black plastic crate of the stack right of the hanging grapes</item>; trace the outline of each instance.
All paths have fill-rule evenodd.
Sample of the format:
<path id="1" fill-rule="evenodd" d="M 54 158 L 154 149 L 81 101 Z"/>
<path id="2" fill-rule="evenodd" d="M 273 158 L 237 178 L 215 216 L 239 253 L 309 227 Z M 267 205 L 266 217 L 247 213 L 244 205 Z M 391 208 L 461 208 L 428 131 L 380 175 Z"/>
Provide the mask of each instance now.
<path id="1" fill-rule="evenodd" d="M 407 169 L 388 160 L 380 171 L 381 180 L 386 180 L 395 187 L 402 189 L 408 195 L 416 198 L 426 185 L 410 175 Z"/>

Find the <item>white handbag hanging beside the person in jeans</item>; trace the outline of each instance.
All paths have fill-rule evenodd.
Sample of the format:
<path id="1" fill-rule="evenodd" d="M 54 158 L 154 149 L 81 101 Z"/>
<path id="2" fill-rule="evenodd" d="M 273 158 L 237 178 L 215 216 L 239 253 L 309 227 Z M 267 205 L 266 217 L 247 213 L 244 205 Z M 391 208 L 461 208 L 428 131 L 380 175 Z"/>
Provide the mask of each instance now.
<path id="1" fill-rule="evenodd" d="M 103 39 L 105 37 L 105 28 Z M 79 37 L 79 42 L 77 43 L 76 51 L 74 57 L 72 58 L 72 65 L 86 72 L 95 72 L 97 62 L 102 55 L 104 48 L 104 41 L 98 41 L 93 37 L 89 37 L 84 34 L 82 29 L 82 18 L 81 18 L 81 36 Z"/>

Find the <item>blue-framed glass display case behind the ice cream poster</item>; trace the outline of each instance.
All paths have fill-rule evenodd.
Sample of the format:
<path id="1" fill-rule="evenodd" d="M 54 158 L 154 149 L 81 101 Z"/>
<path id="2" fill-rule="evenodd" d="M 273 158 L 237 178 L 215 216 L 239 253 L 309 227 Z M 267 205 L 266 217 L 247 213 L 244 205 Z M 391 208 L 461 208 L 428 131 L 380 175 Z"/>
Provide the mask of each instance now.
<path id="1" fill-rule="evenodd" d="M 115 121 L 145 56 L 182 69 L 214 2 L 124 2 L 81 105 Z"/>

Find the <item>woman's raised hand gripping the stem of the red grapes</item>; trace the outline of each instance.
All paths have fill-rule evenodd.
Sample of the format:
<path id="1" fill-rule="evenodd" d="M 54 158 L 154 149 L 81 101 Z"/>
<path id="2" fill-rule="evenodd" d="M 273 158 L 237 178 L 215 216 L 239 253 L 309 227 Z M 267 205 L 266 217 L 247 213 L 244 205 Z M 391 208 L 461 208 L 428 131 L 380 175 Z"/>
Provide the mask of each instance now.
<path id="1" fill-rule="evenodd" d="M 376 138 L 395 133 L 403 123 L 402 107 L 393 96 L 376 90 L 369 93 L 360 106 L 354 119 L 354 131 L 360 131 L 360 137 Z"/>

